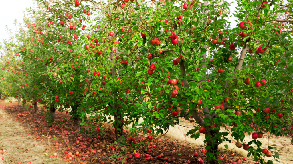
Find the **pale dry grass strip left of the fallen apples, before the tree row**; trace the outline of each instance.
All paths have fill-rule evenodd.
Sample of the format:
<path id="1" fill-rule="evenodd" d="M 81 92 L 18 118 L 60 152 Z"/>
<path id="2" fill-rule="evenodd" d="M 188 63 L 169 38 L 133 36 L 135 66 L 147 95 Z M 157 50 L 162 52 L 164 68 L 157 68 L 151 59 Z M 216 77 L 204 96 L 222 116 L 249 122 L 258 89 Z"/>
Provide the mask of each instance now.
<path id="1" fill-rule="evenodd" d="M 2 104 L 3 105 L 3 104 Z M 23 133 L 23 136 L 21 135 Z M 5 111 L 0 107 L 0 149 L 6 149 L 1 154 L 4 159 L 2 163 L 65 163 L 57 158 L 48 158 L 44 155 L 49 146 L 45 142 L 36 141 L 32 137 L 25 137 L 28 132 L 18 122 L 13 122 L 6 116 Z M 34 144 L 38 144 L 34 146 Z M 31 149 L 27 151 L 27 149 Z M 25 152 L 22 152 L 25 151 Z M 50 155 L 51 153 L 48 152 Z"/>

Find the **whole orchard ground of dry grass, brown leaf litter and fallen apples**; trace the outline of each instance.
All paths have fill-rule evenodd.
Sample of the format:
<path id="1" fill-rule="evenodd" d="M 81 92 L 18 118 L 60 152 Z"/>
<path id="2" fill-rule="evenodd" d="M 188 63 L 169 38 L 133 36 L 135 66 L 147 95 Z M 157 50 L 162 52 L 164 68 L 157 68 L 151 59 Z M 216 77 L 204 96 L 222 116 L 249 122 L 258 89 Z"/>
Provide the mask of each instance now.
<path id="1" fill-rule="evenodd" d="M 25 117 L 25 118 L 23 118 Z M 66 119 L 67 115 L 64 112 L 56 112 L 55 121 L 60 122 L 62 119 Z M 69 125 L 57 125 L 60 126 L 61 129 L 71 131 L 72 130 L 72 122 L 68 122 Z M 188 123 L 182 122 L 182 125 L 190 126 Z M 54 124 L 55 126 L 55 124 Z M 92 142 L 80 141 L 81 143 L 76 144 L 77 138 L 84 137 L 86 138 L 98 138 L 98 136 L 90 136 L 86 134 L 77 134 L 71 133 L 71 135 L 67 135 L 68 139 L 65 139 L 64 134 L 62 134 L 62 130 L 49 129 L 46 128 L 44 118 L 40 116 L 36 116 L 34 113 L 31 113 L 27 109 L 23 109 L 17 106 L 16 103 L 11 103 L 7 106 L 6 103 L 0 102 L 0 150 L 6 149 L 5 153 L 2 153 L 4 159 L 0 159 L 1 163 L 27 163 L 30 161 L 31 163 L 101 163 L 101 161 L 105 161 L 105 163 L 122 163 L 122 159 L 114 160 L 114 158 L 109 158 L 113 156 L 114 153 L 119 154 L 119 151 L 116 149 L 113 151 L 109 146 L 114 142 L 115 135 L 112 133 L 112 126 L 108 124 L 104 124 L 106 135 L 100 136 L 100 139 L 94 140 Z M 204 149 L 203 145 L 203 136 L 199 139 L 194 140 L 188 137 L 185 137 L 186 132 L 188 132 L 188 128 L 184 128 L 182 126 L 175 126 L 175 128 L 170 128 L 169 132 L 166 135 L 162 136 L 162 142 L 155 141 L 155 148 L 150 148 L 151 151 L 148 151 L 149 154 L 154 156 L 158 156 L 163 153 L 164 157 L 169 160 L 169 163 L 185 163 L 190 160 L 190 163 L 199 163 L 199 158 L 204 158 L 203 153 L 201 152 Z M 23 134 L 21 134 L 23 133 Z M 124 135 L 128 135 L 129 132 L 125 131 Z M 30 136 L 28 136 L 30 135 Z M 44 135 L 42 137 L 42 135 Z M 36 139 L 36 137 L 39 137 Z M 48 139 L 48 136 L 51 136 Z M 146 138 L 143 134 L 138 134 L 135 136 L 138 138 Z M 247 140 L 249 140 L 249 137 Z M 65 139 L 65 140 L 64 140 Z M 264 139 L 264 143 L 267 143 L 267 139 Z M 290 143 L 291 136 L 288 137 L 275 137 L 271 138 L 271 144 L 276 144 L 277 149 L 280 151 L 280 162 L 281 163 L 293 163 L 293 146 Z M 55 142 L 62 143 L 62 146 L 57 146 Z M 37 145 L 35 145 L 37 144 Z M 84 144 L 87 146 L 86 149 L 81 149 L 80 146 Z M 226 143 L 225 143 L 226 144 Z M 227 144 L 232 151 L 234 152 L 234 156 L 231 156 L 230 153 L 221 153 L 220 156 L 224 158 L 222 163 L 237 163 L 238 160 L 241 160 L 240 163 L 255 163 L 255 161 L 251 160 L 252 157 L 246 158 L 243 160 L 247 154 L 247 151 L 243 149 L 234 149 L 235 143 Z M 281 146 L 281 147 L 280 147 Z M 164 149 L 166 147 L 166 149 Z M 222 145 L 224 149 L 224 144 Z M 70 150 L 65 150 L 70 148 Z M 75 149 L 73 149 L 75 148 Z M 96 153 L 88 152 L 89 148 L 97 150 Z M 28 151 L 30 149 L 30 151 Z M 176 152 L 173 152 L 175 150 Z M 221 146 L 219 146 L 219 150 Z M 80 153 L 80 156 L 74 156 L 72 160 L 62 159 L 66 154 L 65 151 L 72 152 L 75 154 L 76 152 Z M 53 153 L 57 153 L 57 157 L 49 158 L 49 155 Z M 129 158 L 126 159 L 127 163 L 165 163 L 165 161 L 153 158 L 151 160 L 145 160 L 144 150 L 139 150 L 141 153 L 140 158 L 132 158 L 131 161 Z M 197 152 L 197 158 L 193 157 L 193 153 Z M 163 158 L 164 158 L 163 157 Z M 218 158 L 219 158 L 218 157 Z M 175 160 L 172 160 L 175 158 Z M 271 159 L 265 159 L 271 160 Z M 125 162 L 124 162 L 125 163 Z M 274 163 L 277 163 L 274 161 Z"/>

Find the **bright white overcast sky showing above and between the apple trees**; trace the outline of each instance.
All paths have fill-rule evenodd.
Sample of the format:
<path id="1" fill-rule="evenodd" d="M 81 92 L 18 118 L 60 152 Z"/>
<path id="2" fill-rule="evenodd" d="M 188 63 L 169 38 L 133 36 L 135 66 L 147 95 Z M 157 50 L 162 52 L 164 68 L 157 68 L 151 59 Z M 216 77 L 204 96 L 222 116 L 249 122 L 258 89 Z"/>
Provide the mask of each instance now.
<path id="1" fill-rule="evenodd" d="M 229 3 L 233 0 L 227 0 Z M 233 3 L 230 6 L 231 11 L 235 10 L 235 7 L 237 4 Z M 8 39 L 9 36 L 7 32 L 5 31 L 5 26 L 8 26 L 8 29 L 15 30 L 16 27 L 14 26 L 14 19 L 17 20 L 17 22 L 23 22 L 23 11 L 25 11 L 26 8 L 29 8 L 30 6 L 33 7 L 33 0 L 8 0 L 4 1 L 1 0 L 0 5 L 0 42 L 3 41 L 3 39 Z M 236 26 L 236 23 L 234 22 L 234 17 L 232 14 L 230 14 L 229 22 L 232 23 L 231 28 Z"/>

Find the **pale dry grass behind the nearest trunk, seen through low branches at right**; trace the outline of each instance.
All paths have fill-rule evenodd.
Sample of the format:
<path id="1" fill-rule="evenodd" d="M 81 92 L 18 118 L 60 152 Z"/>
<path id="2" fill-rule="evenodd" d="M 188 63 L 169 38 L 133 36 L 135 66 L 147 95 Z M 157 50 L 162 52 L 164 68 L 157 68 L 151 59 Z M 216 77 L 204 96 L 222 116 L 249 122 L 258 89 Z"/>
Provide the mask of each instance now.
<path id="1" fill-rule="evenodd" d="M 189 124 L 185 122 L 181 122 L 181 125 L 184 126 L 195 126 L 194 124 Z M 192 144 L 194 146 L 200 146 L 204 149 L 204 139 L 205 135 L 200 134 L 200 137 L 198 139 L 191 139 L 190 136 L 186 137 L 187 132 L 191 128 L 185 128 L 180 125 L 175 125 L 174 127 L 170 127 L 168 133 L 164 135 L 164 137 L 173 139 L 174 141 L 179 140 L 179 141 L 185 141 L 188 144 Z M 221 129 L 221 131 L 224 131 L 224 129 Z M 223 144 L 218 146 L 218 149 L 224 150 L 224 145 L 228 145 L 229 150 L 232 149 L 232 152 L 235 154 L 240 154 L 243 157 L 247 156 L 247 151 L 245 151 L 243 148 L 239 149 L 238 147 L 235 146 L 235 143 L 237 142 L 236 140 L 233 139 L 231 134 L 228 135 L 228 138 L 232 141 L 232 143 L 229 142 L 224 142 Z M 247 142 L 251 141 L 252 138 L 248 135 L 245 136 L 244 140 Z M 262 148 L 268 147 L 268 138 L 261 138 L 260 141 L 262 142 Z M 280 155 L 280 163 L 293 163 L 293 145 L 291 145 L 291 137 L 270 137 L 269 139 L 269 145 L 275 144 L 277 150 L 279 151 Z M 253 157 L 248 157 L 250 159 L 253 159 Z M 272 160 L 272 158 L 267 158 L 265 157 L 265 161 Z M 274 163 L 278 163 L 277 161 L 274 160 Z"/>

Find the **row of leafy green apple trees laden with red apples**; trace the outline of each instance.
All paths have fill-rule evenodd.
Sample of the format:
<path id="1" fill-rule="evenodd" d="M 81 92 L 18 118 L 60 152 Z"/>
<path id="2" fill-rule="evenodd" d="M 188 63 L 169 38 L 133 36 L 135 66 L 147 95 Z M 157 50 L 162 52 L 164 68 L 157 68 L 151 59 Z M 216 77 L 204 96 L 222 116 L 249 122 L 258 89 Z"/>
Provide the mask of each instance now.
<path id="1" fill-rule="evenodd" d="M 159 135 L 185 118 L 207 163 L 220 162 L 227 125 L 254 160 L 279 158 L 257 139 L 292 130 L 292 1 L 37 2 L 4 42 L 1 83 L 48 123 L 69 110 L 76 129 L 112 123 L 124 145 L 123 127 Z"/>

